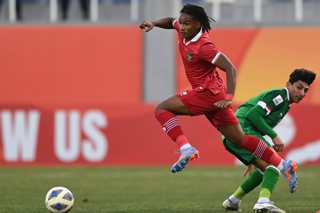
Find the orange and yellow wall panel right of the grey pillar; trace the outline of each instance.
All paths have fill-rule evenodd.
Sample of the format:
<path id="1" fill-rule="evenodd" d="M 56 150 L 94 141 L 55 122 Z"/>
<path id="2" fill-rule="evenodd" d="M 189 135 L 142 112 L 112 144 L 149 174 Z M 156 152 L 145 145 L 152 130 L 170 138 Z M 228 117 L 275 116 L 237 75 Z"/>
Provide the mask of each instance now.
<path id="1" fill-rule="evenodd" d="M 294 69 L 318 73 L 319 37 L 320 28 L 315 27 L 213 28 L 209 33 L 210 40 L 237 69 L 235 104 L 270 88 L 284 88 Z M 183 91 L 189 85 L 181 60 L 177 66 L 177 91 Z M 220 74 L 225 79 L 222 71 Z M 317 77 L 301 104 L 320 104 L 319 91 Z"/>

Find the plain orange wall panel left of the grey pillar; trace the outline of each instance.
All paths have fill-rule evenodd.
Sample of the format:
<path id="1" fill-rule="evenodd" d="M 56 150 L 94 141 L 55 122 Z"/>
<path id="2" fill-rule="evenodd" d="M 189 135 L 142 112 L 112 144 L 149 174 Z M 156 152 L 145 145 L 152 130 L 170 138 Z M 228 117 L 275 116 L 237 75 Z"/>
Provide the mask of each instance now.
<path id="1" fill-rule="evenodd" d="M 51 107 L 141 100 L 138 27 L 26 26 L 0 32 L 0 103 Z"/>

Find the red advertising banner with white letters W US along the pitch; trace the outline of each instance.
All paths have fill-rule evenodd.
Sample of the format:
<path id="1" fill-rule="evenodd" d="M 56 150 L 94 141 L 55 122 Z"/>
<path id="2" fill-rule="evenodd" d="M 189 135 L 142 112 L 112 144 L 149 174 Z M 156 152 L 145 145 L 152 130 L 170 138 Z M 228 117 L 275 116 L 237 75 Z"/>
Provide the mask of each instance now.
<path id="1" fill-rule="evenodd" d="M 177 147 L 162 131 L 153 108 L 114 105 L 45 110 L 6 106 L 0 109 L 0 163 L 170 165 L 178 159 L 174 154 Z M 292 106 L 275 129 L 285 143 L 281 157 L 299 164 L 320 163 L 319 116 L 319 107 Z M 200 152 L 192 165 L 237 164 L 224 150 L 220 133 L 204 116 L 179 118 L 186 137 Z"/>

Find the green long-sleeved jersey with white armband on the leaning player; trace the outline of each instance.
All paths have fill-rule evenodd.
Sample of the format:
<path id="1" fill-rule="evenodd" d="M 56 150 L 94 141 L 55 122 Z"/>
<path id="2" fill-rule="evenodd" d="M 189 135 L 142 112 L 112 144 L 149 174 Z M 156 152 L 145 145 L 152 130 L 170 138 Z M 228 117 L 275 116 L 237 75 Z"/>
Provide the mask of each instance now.
<path id="1" fill-rule="evenodd" d="M 250 127 L 261 135 L 267 135 L 271 139 L 277 134 L 272 130 L 284 115 L 289 111 L 289 92 L 284 89 L 270 89 L 260 93 L 243 103 L 235 112 L 243 129 Z M 251 110 L 252 109 L 252 110 Z M 262 115 L 263 120 L 258 120 Z M 248 134 L 245 132 L 245 134 Z"/>

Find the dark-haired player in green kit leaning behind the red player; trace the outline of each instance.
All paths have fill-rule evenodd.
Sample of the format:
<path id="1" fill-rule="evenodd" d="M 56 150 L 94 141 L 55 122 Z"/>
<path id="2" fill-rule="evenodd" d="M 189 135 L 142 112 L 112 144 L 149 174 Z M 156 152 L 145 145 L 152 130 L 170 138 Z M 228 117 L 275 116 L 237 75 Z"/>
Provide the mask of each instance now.
<path id="1" fill-rule="evenodd" d="M 279 136 L 272 130 L 284 115 L 289 111 L 290 104 L 299 103 L 307 91 L 310 84 L 315 79 L 315 73 L 306 69 L 295 69 L 291 72 L 289 80 L 284 89 L 270 89 L 260 93 L 242 104 L 235 112 L 242 130 L 245 134 L 255 136 L 264 141 L 268 147 L 272 146 L 263 138 L 267 135 L 272 142 L 281 141 Z M 280 171 L 269 163 L 256 158 L 252 153 L 235 147 L 232 143 L 222 136 L 222 142 L 225 149 L 237 157 L 243 164 L 248 166 L 246 173 L 249 177 L 241 184 L 241 186 L 223 202 L 222 208 L 229 211 L 240 211 L 241 199 L 251 192 L 255 187 L 262 183 L 260 195 L 257 203 L 253 207 L 255 213 L 285 213 L 283 210 L 275 207 L 273 202 L 269 200 L 273 191 Z M 291 164 L 296 162 L 291 161 Z M 254 167 L 257 167 L 253 172 Z M 283 174 L 288 179 L 289 176 Z M 295 192 L 297 182 L 289 185 L 290 193 Z"/>

